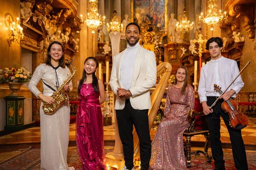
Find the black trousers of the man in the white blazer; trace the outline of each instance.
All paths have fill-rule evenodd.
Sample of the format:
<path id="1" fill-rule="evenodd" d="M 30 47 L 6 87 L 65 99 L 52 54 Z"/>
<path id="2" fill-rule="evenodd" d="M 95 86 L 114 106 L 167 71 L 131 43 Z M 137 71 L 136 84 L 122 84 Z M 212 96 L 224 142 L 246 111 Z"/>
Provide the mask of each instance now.
<path id="1" fill-rule="evenodd" d="M 125 106 L 122 110 L 116 110 L 118 130 L 122 141 L 124 161 L 127 169 L 134 167 L 133 124 L 140 140 L 141 169 L 149 169 L 151 140 L 148 111 L 149 109 L 134 109 L 129 99 L 125 100 Z"/>

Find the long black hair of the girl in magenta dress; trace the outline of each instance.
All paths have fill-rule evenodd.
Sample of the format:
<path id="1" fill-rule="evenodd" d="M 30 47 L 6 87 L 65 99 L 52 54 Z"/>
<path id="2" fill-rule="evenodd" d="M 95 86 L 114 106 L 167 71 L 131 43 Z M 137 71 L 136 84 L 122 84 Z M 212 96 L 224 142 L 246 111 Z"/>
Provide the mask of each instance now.
<path id="1" fill-rule="evenodd" d="M 99 66 L 99 62 L 98 62 L 97 58 L 94 57 L 94 56 L 89 56 L 88 58 L 86 58 L 85 61 L 84 61 L 84 64 L 85 64 L 89 59 L 92 59 L 92 60 L 95 61 L 95 63 L 96 63 L 96 68 Z M 96 70 L 92 73 L 92 86 L 93 86 L 93 90 L 94 90 L 96 93 L 99 93 L 98 78 L 96 77 L 95 72 L 96 72 Z M 78 88 L 77 88 L 78 94 L 80 94 L 81 86 L 83 85 L 83 82 L 84 82 L 85 80 L 86 80 L 86 72 L 85 72 L 85 70 L 83 69 L 83 75 L 82 75 L 82 78 L 79 80 L 79 85 L 78 85 Z"/>

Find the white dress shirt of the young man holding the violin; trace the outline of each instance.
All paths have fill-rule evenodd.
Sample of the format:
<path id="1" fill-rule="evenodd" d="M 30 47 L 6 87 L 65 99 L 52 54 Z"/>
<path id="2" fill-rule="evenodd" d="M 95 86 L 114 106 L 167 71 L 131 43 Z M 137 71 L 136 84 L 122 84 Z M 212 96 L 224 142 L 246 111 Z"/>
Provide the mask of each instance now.
<path id="1" fill-rule="evenodd" d="M 235 60 L 224 56 L 216 60 L 211 59 L 201 68 L 198 86 L 200 102 L 207 101 L 207 96 L 219 96 L 219 92 L 214 91 L 213 85 L 219 85 L 221 90 L 224 91 L 238 74 L 239 69 Z M 239 75 L 227 91 L 233 89 L 236 94 L 243 85 L 244 83 Z M 235 94 L 232 97 L 235 97 Z"/>

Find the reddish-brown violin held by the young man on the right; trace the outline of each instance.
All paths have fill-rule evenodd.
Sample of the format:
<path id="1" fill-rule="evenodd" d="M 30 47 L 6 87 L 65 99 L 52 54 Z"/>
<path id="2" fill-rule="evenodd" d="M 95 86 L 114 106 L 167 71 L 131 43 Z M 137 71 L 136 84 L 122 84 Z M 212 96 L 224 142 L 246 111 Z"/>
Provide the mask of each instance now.
<path id="1" fill-rule="evenodd" d="M 219 94 L 222 94 L 221 87 L 214 84 L 214 90 Z M 236 108 L 235 101 L 233 99 L 225 100 L 221 103 L 222 109 L 229 115 L 229 125 L 234 129 L 242 129 L 249 123 L 248 117 L 238 111 Z"/>

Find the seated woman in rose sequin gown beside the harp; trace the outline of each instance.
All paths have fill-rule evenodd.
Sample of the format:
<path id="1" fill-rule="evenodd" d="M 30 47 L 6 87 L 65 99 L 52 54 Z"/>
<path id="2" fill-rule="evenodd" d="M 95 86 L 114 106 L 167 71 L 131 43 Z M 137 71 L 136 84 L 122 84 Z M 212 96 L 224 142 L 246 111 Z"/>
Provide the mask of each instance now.
<path id="1" fill-rule="evenodd" d="M 150 167 L 154 170 L 187 169 L 183 132 L 189 126 L 187 113 L 194 108 L 194 91 L 187 84 L 185 66 L 177 69 L 175 80 L 168 88 L 164 117 L 152 142 Z"/>

